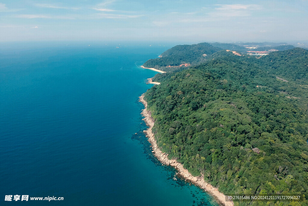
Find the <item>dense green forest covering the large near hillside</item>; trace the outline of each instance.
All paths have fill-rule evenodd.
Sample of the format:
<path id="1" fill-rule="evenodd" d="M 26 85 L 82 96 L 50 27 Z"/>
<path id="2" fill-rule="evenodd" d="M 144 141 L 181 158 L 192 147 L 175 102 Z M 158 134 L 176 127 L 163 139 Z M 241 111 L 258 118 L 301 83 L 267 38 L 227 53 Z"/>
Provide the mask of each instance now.
<path id="1" fill-rule="evenodd" d="M 223 50 L 200 65 L 156 74 L 161 84 L 145 99 L 159 147 L 225 194 L 307 197 L 307 52 L 257 59 Z"/>

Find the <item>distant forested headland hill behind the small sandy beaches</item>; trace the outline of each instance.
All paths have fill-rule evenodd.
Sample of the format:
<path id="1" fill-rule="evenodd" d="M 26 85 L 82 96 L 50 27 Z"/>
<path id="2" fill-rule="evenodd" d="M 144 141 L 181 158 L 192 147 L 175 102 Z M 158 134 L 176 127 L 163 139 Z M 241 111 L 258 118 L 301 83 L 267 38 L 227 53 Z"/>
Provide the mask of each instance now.
<path id="1" fill-rule="evenodd" d="M 208 43 L 177 45 L 162 53 L 160 58 L 150 59 L 144 63 L 144 67 L 179 66 L 181 64 L 196 64 L 202 62 L 209 55 L 220 51 Z"/>

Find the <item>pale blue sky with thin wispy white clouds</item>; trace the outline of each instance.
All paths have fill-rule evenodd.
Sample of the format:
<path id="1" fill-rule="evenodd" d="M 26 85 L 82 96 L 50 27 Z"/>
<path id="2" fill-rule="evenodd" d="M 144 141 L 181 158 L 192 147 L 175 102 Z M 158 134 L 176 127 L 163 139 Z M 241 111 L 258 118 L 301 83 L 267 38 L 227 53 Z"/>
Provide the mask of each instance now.
<path id="1" fill-rule="evenodd" d="M 0 0 L 0 41 L 307 40 L 308 0 Z"/>

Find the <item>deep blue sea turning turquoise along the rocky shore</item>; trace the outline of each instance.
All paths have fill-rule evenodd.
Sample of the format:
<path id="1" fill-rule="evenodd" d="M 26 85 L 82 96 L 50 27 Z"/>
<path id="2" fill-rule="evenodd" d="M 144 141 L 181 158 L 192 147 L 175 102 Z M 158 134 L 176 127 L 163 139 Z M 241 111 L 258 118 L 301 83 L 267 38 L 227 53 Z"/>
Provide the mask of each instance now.
<path id="1" fill-rule="evenodd" d="M 156 72 L 136 65 L 166 48 L 2 45 L 0 205 L 216 205 L 174 181 L 176 170 L 161 166 L 142 132 L 138 97 Z"/>

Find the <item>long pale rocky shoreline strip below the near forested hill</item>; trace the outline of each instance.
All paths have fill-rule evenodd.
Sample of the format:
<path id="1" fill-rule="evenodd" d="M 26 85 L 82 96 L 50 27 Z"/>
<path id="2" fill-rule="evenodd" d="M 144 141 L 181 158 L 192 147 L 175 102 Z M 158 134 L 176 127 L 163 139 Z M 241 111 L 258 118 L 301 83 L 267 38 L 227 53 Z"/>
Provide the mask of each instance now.
<path id="1" fill-rule="evenodd" d="M 159 149 L 157 142 L 154 138 L 154 134 L 152 132 L 152 128 L 154 126 L 154 119 L 151 116 L 151 111 L 147 110 L 148 103 L 144 100 L 144 95 L 141 95 L 139 97 L 139 101 L 144 104 L 144 109 L 142 110 L 141 114 L 144 116 L 145 123 L 149 126 L 147 130 L 144 130 L 144 133 L 146 133 L 146 137 L 148 137 L 148 141 L 152 145 L 152 153 L 156 156 L 156 158 L 165 165 L 171 165 L 178 170 L 178 175 L 184 177 L 186 180 L 192 182 L 193 184 L 201 187 L 209 194 L 213 195 L 215 200 L 217 200 L 218 203 L 225 205 L 225 206 L 233 206 L 233 202 L 228 202 L 225 199 L 225 195 L 218 191 L 217 188 L 213 187 L 209 183 L 205 182 L 203 176 L 194 177 L 192 174 L 188 172 L 188 170 L 184 169 L 183 165 L 179 162 L 177 162 L 175 159 L 168 159 L 168 154 L 162 153 L 162 151 Z"/>

